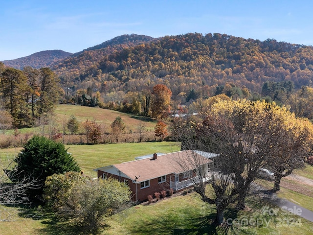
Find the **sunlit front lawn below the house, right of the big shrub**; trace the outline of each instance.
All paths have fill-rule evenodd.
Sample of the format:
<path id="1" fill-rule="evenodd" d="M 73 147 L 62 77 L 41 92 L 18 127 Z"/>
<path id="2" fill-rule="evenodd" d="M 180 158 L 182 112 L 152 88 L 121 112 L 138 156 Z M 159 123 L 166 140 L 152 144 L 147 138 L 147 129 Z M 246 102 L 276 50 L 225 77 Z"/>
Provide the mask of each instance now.
<path id="1" fill-rule="evenodd" d="M 161 200 L 151 205 L 138 205 L 122 211 L 108 219 L 109 228 L 103 235 L 311 235 L 313 223 L 299 217 L 283 215 L 279 211 L 276 216 L 262 215 L 261 202 L 259 208 L 235 213 L 225 211 L 224 217 L 229 224 L 234 218 L 248 218 L 250 226 L 235 225 L 231 227 L 216 227 L 212 224 L 215 218 L 215 206 L 204 203 L 196 193 Z M 267 204 L 268 205 L 268 204 Z M 273 206 L 268 205 L 269 208 Z M 259 226 L 253 225 L 258 220 Z M 285 224 L 280 223 L 284 220 Z M 240 221 L 240 220 L 239 220 Z M 290 225 L 286 224 L 291 221 Z M 295 221 L 295 223 L 293 223 Z M 269 222 L 269 226 L 266 225 Z M 263 223 L 263 224 L 261 224 Z M 300 224 L 301 223 L 301 224 Z M 227 232 L 228 229 L 228 232 Z"/>

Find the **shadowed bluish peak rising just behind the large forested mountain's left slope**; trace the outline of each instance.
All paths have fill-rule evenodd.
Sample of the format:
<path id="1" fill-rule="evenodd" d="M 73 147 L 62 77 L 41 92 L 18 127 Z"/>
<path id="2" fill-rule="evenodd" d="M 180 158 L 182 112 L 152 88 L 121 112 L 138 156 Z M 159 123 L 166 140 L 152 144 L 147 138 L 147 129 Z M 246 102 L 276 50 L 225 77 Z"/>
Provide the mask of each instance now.
<path id="1" fill-rule="evenodd" d="M 78 77 L 87 69 L 97 67 L 105 55 L 115 53 L 127 47 L 152 42 L 155 38 L 145 35 L 121 35 L 94 47 L 72 54 L 70 57 L 57 61 L 50 67 L 59 76 Z"/>

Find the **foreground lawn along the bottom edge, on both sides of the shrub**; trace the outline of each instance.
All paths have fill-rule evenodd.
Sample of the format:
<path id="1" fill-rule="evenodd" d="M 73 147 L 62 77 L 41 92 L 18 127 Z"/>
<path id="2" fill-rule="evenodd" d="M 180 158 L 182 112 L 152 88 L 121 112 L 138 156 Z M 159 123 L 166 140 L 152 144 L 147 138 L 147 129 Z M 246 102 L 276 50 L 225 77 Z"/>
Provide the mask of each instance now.
<path id="1" fill-rule="evenodd" d="M 255 201 L 254 201 L 255 202 Z M 107 227 L 101 235 L 312 235 L 313 223 L 297 216 L 262 213 L 262 207 L 273 206 L 262 201 L 249 205 L 248 210 L 234 212 L 226 210 L 225 219 L 229 227 L 212 224 L 215 206 L 204 203 L 196 193 L 172 196 L 150 205 L 136 205 L 107 218 Z M 248 219 L 249 226 L 235 224 Z M 258 221 L 258 225 L 255 224 Z M 282 221 L 282 222 L 281 222 Z M 231 225 L 231 223 L 233 223 Z M 267 224 L 268 223 L 268 224 Z M 53 219 L 25 219 L 17 222 L 1 222 L 0 231 L 6 235 L 77 235 L 70 223 Z"/>

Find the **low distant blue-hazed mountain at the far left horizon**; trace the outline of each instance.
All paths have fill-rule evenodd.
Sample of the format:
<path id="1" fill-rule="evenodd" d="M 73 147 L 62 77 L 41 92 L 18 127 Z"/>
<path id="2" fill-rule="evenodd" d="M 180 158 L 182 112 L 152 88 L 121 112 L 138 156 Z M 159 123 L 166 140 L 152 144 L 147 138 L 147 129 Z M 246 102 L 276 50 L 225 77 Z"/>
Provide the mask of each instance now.
<path id="1" fill-rule="evenodd" d="M 4 60 L 1 62 L 8 67 L 13 67 L 19 70 L 22 70 L 26 66 L 40 69 L 43 67 L 49 67 L 52 63 L 64 59 L 71 54 L 72 53 L 63 50 L 44 50 L 15 60 Z"/>

